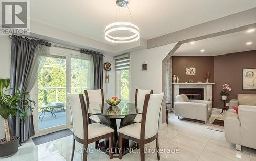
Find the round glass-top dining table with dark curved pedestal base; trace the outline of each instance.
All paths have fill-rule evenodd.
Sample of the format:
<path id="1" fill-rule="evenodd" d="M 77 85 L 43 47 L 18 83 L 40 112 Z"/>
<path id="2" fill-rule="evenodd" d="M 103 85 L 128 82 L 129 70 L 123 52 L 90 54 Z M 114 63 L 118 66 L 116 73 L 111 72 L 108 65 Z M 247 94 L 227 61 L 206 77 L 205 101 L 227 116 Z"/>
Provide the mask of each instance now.
<path id="1" fill-rule="evenodd" d="M 142 114 L 143 102 L 126 102 L 121 101 L 116 106 L 110 106 L 107 103 L 90 103 L 87 104 L 88 115 L 97 115 L 102 124 L 113 128 L 113 147 L 114 157 L 118 157 L 118 132 L 119 128 L 130 125 L 133 123 L 136 115 Z M 120 123 L 119 123 L 120 122 Z M 108 149 L 109 140 L 100 142 L 97 144 L 97 148 L 105 151 Z M 136 143 L 123 139 L 123 155 L 129 150 L 136 148 Z M 108 154 L 108 151 L 105 151 Z"/>

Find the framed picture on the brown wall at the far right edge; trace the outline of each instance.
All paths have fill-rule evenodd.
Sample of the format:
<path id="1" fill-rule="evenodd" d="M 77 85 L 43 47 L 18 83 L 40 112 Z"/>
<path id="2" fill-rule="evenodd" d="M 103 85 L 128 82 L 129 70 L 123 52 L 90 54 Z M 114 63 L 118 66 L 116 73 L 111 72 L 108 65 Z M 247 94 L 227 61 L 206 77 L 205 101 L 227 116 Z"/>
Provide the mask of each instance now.
<path id="1" fill-rule="evenodd" d="M 256 68 L 242 70 L 243 90 L 256 90 Z"/>

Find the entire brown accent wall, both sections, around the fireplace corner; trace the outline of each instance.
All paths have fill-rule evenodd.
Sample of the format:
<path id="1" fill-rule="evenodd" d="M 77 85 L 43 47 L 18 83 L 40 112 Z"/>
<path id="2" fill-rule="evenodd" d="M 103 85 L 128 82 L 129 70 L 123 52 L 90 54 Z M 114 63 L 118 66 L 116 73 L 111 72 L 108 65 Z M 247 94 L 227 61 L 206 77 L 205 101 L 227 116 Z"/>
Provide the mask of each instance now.
<path id="1" fill-rule="evenodd" d="M 194 82 L 204 80 L 205 71 L 210 72 L 210 82 L 215 82 L 212 89 L 215 108 L 223 108 L 223 102 L 219 95 L 222 85 L 227 83 L 232 91 L 228 99 L 237 99 L 237 94 L 256 94 L 256 90 L 242 89 L 242 69 L 256 68 L 256 50 L 226 55 L 207 56 L 173 56 L 173 74 L 179 76 L 179 82 L 186 82 L 193 79 Z M 196 75 L 186 75 L 186 67 L 195 67 Z"/>

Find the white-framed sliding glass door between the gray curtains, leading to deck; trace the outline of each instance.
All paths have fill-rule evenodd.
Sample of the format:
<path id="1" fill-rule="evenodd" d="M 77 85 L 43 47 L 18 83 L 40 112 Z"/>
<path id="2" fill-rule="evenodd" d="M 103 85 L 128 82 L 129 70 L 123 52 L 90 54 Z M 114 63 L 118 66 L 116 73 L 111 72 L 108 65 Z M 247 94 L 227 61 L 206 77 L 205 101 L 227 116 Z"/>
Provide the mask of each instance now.
<path id="1" fill-rule="evenodd" d="M 72 127 L 66 93 L 83 94 L 94 88 L 91 55 L 79 51 L 51 47 L 38 81 L 31 91 L 36 136 Z"/>

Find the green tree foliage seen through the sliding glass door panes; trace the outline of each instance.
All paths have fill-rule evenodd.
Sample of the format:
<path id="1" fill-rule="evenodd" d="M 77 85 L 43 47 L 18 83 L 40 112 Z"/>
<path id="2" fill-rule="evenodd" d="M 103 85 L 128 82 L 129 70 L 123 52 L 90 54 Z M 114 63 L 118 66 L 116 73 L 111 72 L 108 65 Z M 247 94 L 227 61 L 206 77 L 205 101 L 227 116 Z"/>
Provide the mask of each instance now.
<path id="1" fill-rule="evenodd" d="M 81 94 L 90 87 L 88 70 L 92 70 L 88 60 L 71 58 L 71 93 Z M 57 101 L 66 102 L 66 59 L 47 58 L 39 73 L 38 87 L 59 87 Z M 56 89 L 40 89 L 38 92 L 39 106 L 56 101 Z"/>

